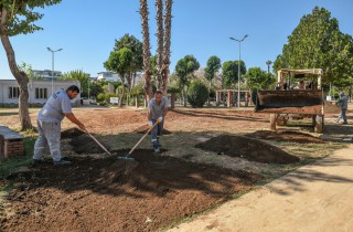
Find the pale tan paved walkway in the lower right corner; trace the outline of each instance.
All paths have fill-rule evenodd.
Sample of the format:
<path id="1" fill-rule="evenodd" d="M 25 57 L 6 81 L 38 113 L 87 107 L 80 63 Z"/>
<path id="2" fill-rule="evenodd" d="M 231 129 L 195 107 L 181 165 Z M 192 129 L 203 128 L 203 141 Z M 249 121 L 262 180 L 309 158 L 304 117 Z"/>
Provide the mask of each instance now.
<path id="1" fill-rule="evenodd" d="M 170 231 L 353 231 L 353 145 Z"/>

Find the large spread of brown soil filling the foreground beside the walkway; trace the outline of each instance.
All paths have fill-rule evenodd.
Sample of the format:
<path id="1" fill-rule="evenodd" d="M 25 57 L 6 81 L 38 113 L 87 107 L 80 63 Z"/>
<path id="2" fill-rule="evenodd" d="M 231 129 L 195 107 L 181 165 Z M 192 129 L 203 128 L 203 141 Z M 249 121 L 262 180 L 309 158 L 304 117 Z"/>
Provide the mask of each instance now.
<path id="1" fill-rule="evenodd" d="M 1 221 L 2 229 L 160 231 L 228 200 L 261 178 L 150 150 L 136 150 L 132 157 L 135 161 L 75 157 L 71 166 L 53 167 L 47 161 L 20 172 L 21 184 L 9 194 L 13 213 Z"/>

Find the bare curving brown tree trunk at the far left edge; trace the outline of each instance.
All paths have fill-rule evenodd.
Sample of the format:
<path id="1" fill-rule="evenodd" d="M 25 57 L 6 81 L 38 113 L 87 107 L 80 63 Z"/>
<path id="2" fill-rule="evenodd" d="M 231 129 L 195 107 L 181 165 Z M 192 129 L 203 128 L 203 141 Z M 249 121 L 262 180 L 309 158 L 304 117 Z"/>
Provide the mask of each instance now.
<path id="1" fill-rule="evenodd" d="M 20 72 L 14 56 L 14 51 L 12 49 L 9 35 L 7 34 L 7 9 L 3 7 L 1 11 L 1 24 L 0 24 L 0 34 L 1 43 L 4 51 L 7 52 L 8 63 L 11 70 L 12 75 L 17 80 L 20 87 L 20 97 L 19 97 L 19 116 L 21 122 L 21 130 L 26 130 L 33 128 L 30 112 L 29 112 L 29 78 L 25 73 Z"/>

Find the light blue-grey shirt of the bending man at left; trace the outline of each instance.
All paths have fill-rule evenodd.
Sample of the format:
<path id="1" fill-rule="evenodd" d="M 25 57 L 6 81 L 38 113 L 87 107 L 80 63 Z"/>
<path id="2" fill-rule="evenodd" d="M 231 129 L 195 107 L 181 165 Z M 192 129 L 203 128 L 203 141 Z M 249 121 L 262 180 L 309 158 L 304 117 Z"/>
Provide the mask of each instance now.
<path id="1" fill-rule="evenodd" d="M 40 110 L 38 118 L 47 123 L 60 123 L 64 119 L 65 114 L 72 113 L 71 99 L 66 91 L 54 93 Z"/>

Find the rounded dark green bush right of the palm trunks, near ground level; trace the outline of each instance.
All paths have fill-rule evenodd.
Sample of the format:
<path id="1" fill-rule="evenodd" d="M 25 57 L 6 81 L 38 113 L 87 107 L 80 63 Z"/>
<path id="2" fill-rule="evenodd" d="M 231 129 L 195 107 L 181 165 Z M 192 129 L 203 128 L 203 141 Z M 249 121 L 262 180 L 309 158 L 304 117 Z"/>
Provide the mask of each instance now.
<path id="1" fill-rule="evenodd" d="M 194 108 L 203 107 L 208 98 L 208 89 L 205 84 L 194 81 L 188 88 L 188 102 Z"/>

